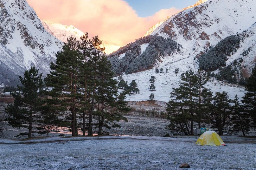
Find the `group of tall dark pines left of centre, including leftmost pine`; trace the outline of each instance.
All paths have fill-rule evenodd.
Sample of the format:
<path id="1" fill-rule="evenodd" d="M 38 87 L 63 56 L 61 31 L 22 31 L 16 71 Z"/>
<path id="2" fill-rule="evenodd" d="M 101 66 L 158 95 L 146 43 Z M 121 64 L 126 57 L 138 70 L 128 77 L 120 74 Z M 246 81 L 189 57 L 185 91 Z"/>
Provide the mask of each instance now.
<path id="1" fill-rule="evenodd" d="M 88 37 L 86 33 L 79 41 L 68 38 L 44 81 L 35 67 L 19 76 L 22 86 L 11 93 L 14 104 L 5 109 L 8 124 L 28 128 L 28 137 L 33 132 L 49 135 L 58 127 L 68 127 L 72 136 L 78 131 L 91 136 L 96 129 L 101 135 L 102 127 L 118 127 L 114 121 L 127 121 L 122 113 L 130 108 L 125 106 L 125 94 L 117 93 L 102 41 Z"/>

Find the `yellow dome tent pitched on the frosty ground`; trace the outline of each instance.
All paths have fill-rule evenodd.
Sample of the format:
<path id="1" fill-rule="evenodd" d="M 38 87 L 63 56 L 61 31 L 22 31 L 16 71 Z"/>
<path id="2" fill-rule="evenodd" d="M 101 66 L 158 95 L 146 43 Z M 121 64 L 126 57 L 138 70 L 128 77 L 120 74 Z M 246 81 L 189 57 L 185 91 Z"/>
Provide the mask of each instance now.
<path id="1" fill-rule="evenodd" d="M 220 136 L 215 131 L 206 131 L 198 138 L 197 145 L 210 145 L 210 146 L 219 146 L 224 145 L 225 143 L 222 141 Z"/>

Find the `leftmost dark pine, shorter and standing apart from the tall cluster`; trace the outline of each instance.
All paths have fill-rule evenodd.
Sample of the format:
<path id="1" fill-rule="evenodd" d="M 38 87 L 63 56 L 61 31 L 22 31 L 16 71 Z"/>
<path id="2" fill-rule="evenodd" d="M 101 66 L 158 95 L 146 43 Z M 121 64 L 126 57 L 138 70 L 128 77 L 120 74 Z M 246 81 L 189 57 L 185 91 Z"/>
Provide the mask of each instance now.
<path id="1" fill-rule="evenodd" d="M 39 108 L 43 102 L 39 98 L 38 90 L 43 87 L 42 73 L 33 66 L 26 70 L 24 76 L 19 76 L 22 86 L 11 95 L 15 98 L 14 104 L 9 104 L 5 111 L 9 114 L 8 124 L 15 128 L 27 128 L 28 138 L 32 137 L 32 125 L 40 120 Z"/>

